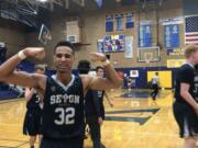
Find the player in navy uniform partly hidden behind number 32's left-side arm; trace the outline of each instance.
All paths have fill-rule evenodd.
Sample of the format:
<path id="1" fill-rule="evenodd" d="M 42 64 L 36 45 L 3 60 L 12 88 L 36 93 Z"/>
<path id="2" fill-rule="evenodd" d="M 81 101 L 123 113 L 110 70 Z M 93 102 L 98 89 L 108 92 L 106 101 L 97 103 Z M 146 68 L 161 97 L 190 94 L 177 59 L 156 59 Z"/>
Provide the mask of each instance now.
<path id="1" fill-rule="evenodd" d="M 44 68 L 41 65 L 35 66 L 35 73 L 44 75 Z M 25 99 L 26 114 L 23 124 L 23 134 L 30 136 L 30 148 L 34 148 L 36 136 L 38 136 L 38 144 L 42 139 L 42 102 L 34 88 L 25 89 Z"/>

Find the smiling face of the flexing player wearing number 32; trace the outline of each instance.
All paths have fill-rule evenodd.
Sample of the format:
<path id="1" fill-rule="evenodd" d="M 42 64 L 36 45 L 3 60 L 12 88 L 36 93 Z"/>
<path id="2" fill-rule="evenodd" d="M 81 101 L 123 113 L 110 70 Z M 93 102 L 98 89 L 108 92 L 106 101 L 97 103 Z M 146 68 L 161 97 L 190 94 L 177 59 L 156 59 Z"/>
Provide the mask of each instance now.
<path id="1" fill-rule="evenodd" d="M 57 71 L 62 73 L 70 71 L 73 62 L 74 54 L 72 48 L 67 46 L 59 46 L 56 48 L 54 55 L 54 64 L 56 66 Z"/>

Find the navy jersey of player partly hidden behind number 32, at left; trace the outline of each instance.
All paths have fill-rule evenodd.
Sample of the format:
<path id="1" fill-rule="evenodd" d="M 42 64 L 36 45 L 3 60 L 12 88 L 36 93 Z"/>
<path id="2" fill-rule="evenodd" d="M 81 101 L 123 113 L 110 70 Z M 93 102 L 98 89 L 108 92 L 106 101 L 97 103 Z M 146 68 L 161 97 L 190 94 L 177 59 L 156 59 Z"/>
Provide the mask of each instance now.
<path id="1" fill-rule="evenodd" d="M 36 92 L 34 92 L 32 98 L 26 102 L 26 109 L 29 109 L 29 110 L 41 110 L 40 96 Z"/>

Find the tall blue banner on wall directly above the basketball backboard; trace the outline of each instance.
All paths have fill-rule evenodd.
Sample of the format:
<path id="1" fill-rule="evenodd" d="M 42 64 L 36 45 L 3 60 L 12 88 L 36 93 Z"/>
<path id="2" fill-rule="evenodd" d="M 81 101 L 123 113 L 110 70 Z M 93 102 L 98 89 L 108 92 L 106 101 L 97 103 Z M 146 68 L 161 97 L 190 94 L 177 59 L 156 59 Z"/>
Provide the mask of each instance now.
<path id="1" fill-rule="evenodd" d="M 152 46 L 152 24 L 151 21 L 143 21 L 139 26 L 139 47 Z"/>

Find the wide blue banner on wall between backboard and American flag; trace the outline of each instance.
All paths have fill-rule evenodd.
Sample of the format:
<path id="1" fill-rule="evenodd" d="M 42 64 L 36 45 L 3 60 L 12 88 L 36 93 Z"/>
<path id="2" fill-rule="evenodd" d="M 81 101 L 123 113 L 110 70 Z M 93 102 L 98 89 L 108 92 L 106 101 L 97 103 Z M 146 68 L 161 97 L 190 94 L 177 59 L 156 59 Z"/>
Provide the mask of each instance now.
<path id="1" fill-rule="evenodd" d="M 166 48 L 179 47 L 179 25 L 164 25 L 164 45 Z"/>

